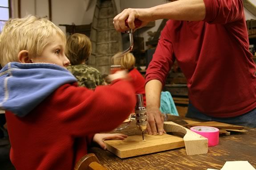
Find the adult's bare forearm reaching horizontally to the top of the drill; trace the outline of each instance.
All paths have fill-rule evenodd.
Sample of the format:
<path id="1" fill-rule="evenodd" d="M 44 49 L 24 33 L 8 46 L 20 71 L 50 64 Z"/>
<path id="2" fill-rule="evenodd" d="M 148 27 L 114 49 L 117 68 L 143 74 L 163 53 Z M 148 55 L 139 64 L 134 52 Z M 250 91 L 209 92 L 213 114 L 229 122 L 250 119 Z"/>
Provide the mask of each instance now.
<path id="1" fill-rule="evenodd" d="M 203 0 L 177 0 L 150 8 L 151 19 L 199 21 L 205 18 Z"/>

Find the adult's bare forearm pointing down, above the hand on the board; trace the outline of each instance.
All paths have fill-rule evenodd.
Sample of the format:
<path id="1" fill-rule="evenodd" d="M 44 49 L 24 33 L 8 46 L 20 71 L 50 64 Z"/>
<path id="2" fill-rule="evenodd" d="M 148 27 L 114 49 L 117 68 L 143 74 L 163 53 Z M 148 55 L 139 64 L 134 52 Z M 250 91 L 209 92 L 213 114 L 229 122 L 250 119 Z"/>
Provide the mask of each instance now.
<path id="1" fill-rule="evenodd" d="M 160 107 L 160 96 L 162 91 L 162 83 L 153 79 L 146 83 L 146 106 L 147 107 Z"/>

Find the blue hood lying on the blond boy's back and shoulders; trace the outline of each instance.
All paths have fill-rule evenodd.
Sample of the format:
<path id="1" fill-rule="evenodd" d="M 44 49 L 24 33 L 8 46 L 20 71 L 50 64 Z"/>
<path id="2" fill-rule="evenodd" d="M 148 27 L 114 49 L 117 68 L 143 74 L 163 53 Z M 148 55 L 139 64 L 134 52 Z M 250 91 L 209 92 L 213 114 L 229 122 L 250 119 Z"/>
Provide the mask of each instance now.
<path id="1" fill-rule="evenodd" d="M 8 63 L 0 70 L 0 109 L 24 117 L 53 91 L 77 79 L 49 63 Z"/>

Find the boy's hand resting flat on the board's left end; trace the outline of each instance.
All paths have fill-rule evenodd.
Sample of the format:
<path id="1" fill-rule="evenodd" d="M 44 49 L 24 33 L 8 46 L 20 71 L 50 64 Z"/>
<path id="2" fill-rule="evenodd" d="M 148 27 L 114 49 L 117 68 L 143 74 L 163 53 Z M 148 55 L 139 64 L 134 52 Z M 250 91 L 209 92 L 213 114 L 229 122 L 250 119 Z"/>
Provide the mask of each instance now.
<path id="1" fill-rule="evenodd" d="M 102 149 L 106 150 L 107 146 L 103 141 L 109 140 L 109 139 L 122 139 L 123 140 L 125 138 L 127 138 L 126 134 L 94 134 L 93 142 L 98 143 L 99 146 L 102 147 Z"/>

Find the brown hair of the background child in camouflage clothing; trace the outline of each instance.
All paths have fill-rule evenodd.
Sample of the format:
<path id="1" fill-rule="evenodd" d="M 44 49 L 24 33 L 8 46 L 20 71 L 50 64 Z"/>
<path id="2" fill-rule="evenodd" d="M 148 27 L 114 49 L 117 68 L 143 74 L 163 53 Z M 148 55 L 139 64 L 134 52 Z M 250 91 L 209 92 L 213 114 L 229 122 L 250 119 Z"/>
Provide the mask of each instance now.
<path id="1" fill-rule="evenodd" d="M 71 65 L 77 65 L 85 62 L 92 52 L 90 39 L 84 34 L 75 33 L 68 37 L 66 45 L 66 56 Z"/>

